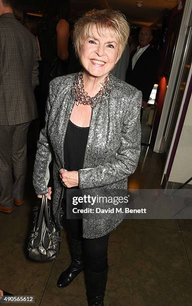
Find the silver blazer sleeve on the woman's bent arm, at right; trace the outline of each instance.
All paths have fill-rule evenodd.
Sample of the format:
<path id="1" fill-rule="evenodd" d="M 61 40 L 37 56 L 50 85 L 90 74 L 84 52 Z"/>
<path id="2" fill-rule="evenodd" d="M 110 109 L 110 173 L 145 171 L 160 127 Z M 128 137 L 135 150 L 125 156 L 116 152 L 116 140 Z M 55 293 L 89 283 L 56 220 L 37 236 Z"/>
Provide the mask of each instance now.
<path id="1" fill-rule="evenodd" d="M 79 188 L 104 186 L 134 172 L 140 154 L 140 107 L 141 92 L 130 99 L 121 130 L 121 144 L 112 162 L 94 168 L 78 170 Z"/>

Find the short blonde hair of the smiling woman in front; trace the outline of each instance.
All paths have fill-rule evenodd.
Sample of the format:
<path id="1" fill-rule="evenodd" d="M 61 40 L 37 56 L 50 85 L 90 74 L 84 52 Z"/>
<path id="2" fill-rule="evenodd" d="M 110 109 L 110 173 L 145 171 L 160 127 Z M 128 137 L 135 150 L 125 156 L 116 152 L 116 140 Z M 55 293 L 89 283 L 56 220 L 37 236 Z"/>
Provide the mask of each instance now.
<path id="1" fill-rule="evenodd" d="M 118 56 L 120 58 L 128 40 L 129 24 L 126 17 L 119 11 L 113 9 L 93 9 L 86 12 L 74 24 L 73 42 L 75 52 L 79 57 L 81 45 L 84 40 L 91 36 L 93 26 L 96 26 L 99 36 L 103 28 L 108 28 L 111 36 L 114 35 L 118 41 Z"/>

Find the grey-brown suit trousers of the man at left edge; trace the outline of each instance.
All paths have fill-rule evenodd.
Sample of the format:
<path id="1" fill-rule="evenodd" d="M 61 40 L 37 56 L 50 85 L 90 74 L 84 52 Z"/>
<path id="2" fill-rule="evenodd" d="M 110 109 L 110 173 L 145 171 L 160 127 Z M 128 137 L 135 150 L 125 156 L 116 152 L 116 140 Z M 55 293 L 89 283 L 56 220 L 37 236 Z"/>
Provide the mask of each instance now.
<path id="1" fill-rule="evenodd" d="M 23 196 L 29 123 L 0 125 L 0 205 L 4 207 L 12 206 L 13 197 Z"/>

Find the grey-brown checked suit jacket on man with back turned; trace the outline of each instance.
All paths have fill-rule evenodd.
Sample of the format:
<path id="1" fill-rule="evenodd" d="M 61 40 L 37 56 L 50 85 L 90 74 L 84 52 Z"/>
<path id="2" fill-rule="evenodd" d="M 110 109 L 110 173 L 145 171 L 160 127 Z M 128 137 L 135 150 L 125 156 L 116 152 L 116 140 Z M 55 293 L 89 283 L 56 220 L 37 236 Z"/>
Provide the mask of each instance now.
<path id="1" fill-rule="evenodd" d="M 11 13 L 0 16 L 0 125 L 31 121 L 37 114 L 35 37 Z"/>

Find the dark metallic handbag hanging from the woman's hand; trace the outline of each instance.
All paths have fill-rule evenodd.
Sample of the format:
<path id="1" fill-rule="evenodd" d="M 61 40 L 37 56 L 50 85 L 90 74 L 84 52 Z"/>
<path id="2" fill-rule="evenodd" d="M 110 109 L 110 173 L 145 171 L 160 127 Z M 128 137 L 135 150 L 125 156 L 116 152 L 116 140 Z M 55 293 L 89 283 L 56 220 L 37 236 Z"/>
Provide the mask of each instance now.
<path id="1" fill-rule="evenodd" d="M 36 261 L 53 260 L 58 255 L 60 241 L 60 231 L 53 221 L 50 201 L 42 195 L 41 204 L 33 208 L 33 226 L 27 246 L 28 256 Z"/>

